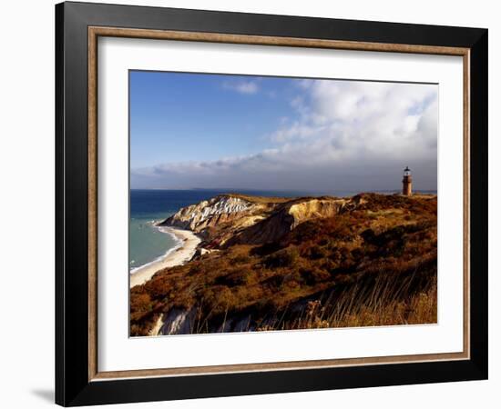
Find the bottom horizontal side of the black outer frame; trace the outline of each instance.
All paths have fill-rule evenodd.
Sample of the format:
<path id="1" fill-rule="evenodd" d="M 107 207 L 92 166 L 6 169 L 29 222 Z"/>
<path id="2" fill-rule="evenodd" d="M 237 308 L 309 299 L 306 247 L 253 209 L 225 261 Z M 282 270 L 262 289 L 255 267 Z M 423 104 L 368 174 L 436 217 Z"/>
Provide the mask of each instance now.
<path id="1" fill-rule="evenodd" d="M 391 366 L 399 365 L 402 371 Z M 446 378 L 446 379 L 445 379 Z M 282 394 L 486 379 L 472 360 L 94 381 L 69 406 Z M 169 382 L 169 386 L 167 385 Z"/>

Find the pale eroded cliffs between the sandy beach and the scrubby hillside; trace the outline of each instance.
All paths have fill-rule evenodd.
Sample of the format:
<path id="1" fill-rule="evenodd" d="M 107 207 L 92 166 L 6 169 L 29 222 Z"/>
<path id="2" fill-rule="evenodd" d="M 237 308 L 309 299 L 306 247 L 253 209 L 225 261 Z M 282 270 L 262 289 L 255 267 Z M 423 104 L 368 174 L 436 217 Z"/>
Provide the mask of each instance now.
<path id="1" fill-rule="evenodd" d="M 332 217 L 360 202 L 336 197 L 304 197 L 259 200 L 245 196 L 219 195 L 173 214 L 162 225 L 192 230 L 210 248 L 233 244 L 264 244 L 279 240 L 312 218 Z"/>

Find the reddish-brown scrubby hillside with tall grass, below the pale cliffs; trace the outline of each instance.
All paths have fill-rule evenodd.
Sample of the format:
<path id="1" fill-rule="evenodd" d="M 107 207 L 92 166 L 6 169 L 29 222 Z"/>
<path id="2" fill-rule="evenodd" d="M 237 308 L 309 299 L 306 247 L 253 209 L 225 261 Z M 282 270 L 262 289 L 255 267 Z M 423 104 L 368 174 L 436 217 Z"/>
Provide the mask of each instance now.
<path id="1" fill-rule="evenodd" d="M 354 199 L 271 243 L 158 272 L 131 289 L 131 334 L 173 312 L 189 333 L 435 323 L 436 196 Z"/>

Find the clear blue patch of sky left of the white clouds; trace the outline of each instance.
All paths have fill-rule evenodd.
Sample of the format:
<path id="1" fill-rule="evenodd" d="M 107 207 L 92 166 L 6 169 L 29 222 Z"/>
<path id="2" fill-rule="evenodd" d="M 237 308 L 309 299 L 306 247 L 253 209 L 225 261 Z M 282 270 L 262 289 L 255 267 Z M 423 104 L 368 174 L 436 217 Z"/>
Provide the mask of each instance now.
<path id="1" fill-rule="evenodd" d="M 257 154 L 293 114 L 290 78 L 134 71 L 130 165 Z M 175 147 L 175 149 L 174 149 Z"/>

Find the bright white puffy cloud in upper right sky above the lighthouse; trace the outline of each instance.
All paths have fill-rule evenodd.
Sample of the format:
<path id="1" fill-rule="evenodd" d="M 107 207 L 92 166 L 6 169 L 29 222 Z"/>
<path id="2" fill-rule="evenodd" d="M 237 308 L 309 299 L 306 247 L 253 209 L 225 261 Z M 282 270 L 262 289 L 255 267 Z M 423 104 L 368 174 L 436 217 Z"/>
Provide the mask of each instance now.
<path id="1" fill-rule="evenodd" d="M 435 158 L 436 85 L 315 80 L 302 86 L 306 98 L 291 101 L 299 119 L 271 141 L 322 146 L 319 155 L 345 160 Z"/>

